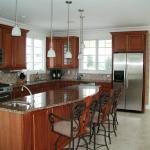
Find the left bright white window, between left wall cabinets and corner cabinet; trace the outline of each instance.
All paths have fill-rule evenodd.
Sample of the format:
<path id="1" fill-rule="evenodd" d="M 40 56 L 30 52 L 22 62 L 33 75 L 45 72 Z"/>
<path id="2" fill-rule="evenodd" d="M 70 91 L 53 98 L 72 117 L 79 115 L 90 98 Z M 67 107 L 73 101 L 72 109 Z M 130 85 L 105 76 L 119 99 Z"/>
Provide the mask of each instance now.
<path id="1" fill-rule="evenodd" d="M 45 48 L 44 40 L 27 38 L 26 42 L 26 63 L 29 71 L 45 70 Z"/>

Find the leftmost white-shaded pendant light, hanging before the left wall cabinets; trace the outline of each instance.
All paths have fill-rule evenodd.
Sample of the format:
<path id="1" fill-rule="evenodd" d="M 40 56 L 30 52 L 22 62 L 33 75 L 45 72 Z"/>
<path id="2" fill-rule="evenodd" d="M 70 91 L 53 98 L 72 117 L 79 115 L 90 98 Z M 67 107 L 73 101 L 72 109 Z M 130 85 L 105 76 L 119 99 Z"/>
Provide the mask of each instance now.
<path id="1" fill-rule="evenodd" d="M 12 36 L 21 36 L 21 29 L 18 26 L 18 20 L 17 20 L 17 11 L 18 11 L 18 0 L 16 0 L 16 6 L 15 6 L 15 25 L 12 29 Z"/>

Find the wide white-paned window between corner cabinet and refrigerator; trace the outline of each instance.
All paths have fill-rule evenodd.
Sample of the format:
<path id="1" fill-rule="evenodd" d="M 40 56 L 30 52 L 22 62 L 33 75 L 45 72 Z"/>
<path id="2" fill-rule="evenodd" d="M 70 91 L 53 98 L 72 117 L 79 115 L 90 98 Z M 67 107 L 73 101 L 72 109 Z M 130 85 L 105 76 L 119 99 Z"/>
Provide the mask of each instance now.
<path id="1" fill-rule="evenodd" d="M 79 62 L 80 73 L 110 74 L 112 66 L 111 40 L 84 41 L 83 58 Z"/>

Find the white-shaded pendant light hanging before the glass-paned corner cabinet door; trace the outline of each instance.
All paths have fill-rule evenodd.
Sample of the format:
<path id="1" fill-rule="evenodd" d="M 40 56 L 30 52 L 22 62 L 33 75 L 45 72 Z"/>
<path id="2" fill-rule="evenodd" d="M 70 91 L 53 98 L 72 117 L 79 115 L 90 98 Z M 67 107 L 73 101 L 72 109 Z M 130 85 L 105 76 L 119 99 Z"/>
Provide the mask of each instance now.
<path id="1" fill-rule="evenodd" d="M 72 1 L 66 1 L 66 4 L 68 5 L 68 29 L 67 29 L 67 38 L 68 38 L 68 42 L 67 42 L 67 52 L 65 53 L 65 58 L 72 58 L 72 54 L 70 51 L 70 41 L 69 41 L 69 7 L 70 4 L 72 4 Z"/>

